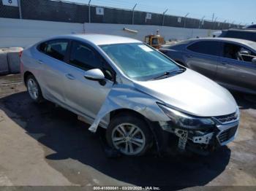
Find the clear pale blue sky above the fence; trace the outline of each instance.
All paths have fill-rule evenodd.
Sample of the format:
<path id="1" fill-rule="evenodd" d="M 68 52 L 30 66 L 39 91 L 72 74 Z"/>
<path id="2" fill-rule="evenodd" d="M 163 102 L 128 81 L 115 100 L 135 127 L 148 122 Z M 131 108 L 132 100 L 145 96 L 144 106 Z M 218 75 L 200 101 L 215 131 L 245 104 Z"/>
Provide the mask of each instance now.
<path id="1" fill-rule="evenodd" d="M 89 0 L 66 0 L 88 4 Z M 132 9 L 162 13 L 167 15 L 202 18 L 227 23 L 249 25 L 256 23 L 256 0 L 91 0 L 91 4 L 104 7 Z"/>

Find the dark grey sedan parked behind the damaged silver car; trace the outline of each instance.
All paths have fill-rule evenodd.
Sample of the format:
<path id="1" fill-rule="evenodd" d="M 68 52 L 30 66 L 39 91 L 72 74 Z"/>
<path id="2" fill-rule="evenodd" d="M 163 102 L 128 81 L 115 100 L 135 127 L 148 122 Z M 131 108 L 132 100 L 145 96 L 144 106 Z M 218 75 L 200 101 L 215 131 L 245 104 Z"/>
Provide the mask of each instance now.
<path id="1" fill-rule="evenodd" d="M 231 90 L 256 94 L 255 42 L 230 38 L 189 39 L 160 51 Z"/>

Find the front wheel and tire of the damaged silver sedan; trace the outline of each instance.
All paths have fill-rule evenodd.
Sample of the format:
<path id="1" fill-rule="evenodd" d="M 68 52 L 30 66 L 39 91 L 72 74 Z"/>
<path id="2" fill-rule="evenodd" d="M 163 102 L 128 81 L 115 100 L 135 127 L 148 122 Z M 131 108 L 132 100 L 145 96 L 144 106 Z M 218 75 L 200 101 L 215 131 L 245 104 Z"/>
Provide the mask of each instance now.
<path id="1" fill-rule="evenodd" d="M 107 128 L 108 144 L 123 155 L 144 155 L 152 145 L 151 130 L 147 126 L 138 116 L 118 115 Z"/>

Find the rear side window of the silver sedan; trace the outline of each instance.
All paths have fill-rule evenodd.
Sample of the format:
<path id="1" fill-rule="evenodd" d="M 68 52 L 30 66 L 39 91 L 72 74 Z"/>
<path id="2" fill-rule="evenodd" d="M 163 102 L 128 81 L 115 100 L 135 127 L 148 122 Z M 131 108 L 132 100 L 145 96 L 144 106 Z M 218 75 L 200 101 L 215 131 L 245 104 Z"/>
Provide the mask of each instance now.
<path id="1" fill-rule="evenodd" d="M 64 61 L 67 53 L 67 44 L 69 44 L 68 40 L 53 40 L 46 42 L 45 47 L 42 44 L 40 48 L 43 49 L 46 55 L 56 58 L 59 61 Z"/>

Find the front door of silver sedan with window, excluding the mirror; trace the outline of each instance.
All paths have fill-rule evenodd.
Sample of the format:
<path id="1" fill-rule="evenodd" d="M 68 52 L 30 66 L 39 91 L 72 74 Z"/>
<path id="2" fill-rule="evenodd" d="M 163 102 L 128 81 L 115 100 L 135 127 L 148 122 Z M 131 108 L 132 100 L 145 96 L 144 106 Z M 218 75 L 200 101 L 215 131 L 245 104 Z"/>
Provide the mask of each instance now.
<path id="1" fill-rule="evenodd" d="M 64 81 L 66 102 L 76 112 L 94 119 L 113 81 L 104 71 L 102 58 L 88 44 L 73 41 L 69 52 L 69 70 Z M 86 79 L 84 72 L 89 69 L 101 69 L 105 73 L 105 83 Z"/>

